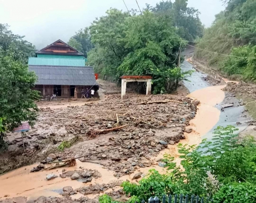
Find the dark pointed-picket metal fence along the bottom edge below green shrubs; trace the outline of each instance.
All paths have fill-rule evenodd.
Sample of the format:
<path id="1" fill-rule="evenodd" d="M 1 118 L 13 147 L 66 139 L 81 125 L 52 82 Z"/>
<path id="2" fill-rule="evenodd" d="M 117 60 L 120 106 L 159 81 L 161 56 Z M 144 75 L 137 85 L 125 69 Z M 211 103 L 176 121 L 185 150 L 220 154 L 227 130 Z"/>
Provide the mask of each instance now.
<path id="1" fill-rule="evenodd" d="M 163 196 L 161 200 L 158 197 L 150 197 L 148 199 L 148 203 L 212 203 L 212 199 L 210 200 L 209 197 L 204 198 L 204 197 L 199 197 L 199 196 L 194 196 L 192 195 L 189 197 L 188 195 L 183 196 L 181 195 L 169 195 L 169 196 Z M 141 203 L 145 203 L 144 200 L 141 201 Z"/>

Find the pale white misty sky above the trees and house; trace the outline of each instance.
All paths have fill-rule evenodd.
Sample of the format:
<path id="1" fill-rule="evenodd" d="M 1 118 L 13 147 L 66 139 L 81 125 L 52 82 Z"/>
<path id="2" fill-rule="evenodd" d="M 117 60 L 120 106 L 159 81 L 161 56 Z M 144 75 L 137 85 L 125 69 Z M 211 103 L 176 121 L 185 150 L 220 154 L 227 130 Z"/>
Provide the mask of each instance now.
<path id="1" fill-rule="evenodd" d="M 155 6 L 160 0 L 137 0 L 141 9 L 145 4 Z M 125 0 L 128 9 L 138 9 L 135 0 Z M 188 6 L 201 12 L 200 19 L 210 26 L 215 15 L 224 10 L 220 0 L 188 0 Z M 65 42 L 75 31 L 89 26 L 107 9 L 125 10 L 123 0 L 0 0 L 0 23 L 9 24 L 14 34 L 41 49 L 61 39 Z"/>

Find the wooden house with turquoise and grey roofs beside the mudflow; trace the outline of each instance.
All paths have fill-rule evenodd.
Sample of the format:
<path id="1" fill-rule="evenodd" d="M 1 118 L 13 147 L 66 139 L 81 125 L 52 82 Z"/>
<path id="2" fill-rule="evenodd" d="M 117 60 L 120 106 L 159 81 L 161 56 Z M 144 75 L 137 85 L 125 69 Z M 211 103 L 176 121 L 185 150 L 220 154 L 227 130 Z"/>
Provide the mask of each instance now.
<path id="1" fill-rule="evenodd" d="M 82 89 L 98 90 L 93 67 L 85 66 L 85 62 L 83 53 L 61 40 L 55 41 L 28 59 L 29 71 L 38 77 L 34 89 L 43 97 L 73 97 L 75 87 L 78 97 Z"/>

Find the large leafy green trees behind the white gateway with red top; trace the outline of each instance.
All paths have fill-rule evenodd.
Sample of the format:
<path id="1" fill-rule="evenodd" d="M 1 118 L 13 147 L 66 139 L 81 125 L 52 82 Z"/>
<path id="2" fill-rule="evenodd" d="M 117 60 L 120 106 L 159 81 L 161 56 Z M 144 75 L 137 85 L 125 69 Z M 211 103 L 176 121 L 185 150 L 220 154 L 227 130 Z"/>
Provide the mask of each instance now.
<path id="1" fill-rule="evenodd" d="M 177 67 L 178 52 L 185 45 L 167 16 L 145 10 L 143 16 L 110 9 L 90 26 L 95 48 L 88 61 L 105 79 L 121 75 L 151 75 L 153 92 L 175 89 L 183 78 Z M 180 48 L 181 47 L 181 48 Z"/>

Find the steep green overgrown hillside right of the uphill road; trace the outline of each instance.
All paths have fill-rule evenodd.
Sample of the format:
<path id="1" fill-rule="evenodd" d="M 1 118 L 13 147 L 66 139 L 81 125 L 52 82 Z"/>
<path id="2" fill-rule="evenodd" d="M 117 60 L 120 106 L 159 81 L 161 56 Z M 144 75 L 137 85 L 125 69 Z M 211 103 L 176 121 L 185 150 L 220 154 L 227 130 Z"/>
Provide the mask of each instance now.
<path id="1" fill-rule="evenodd" d="M 255 82 L 256 0 L 223 0 L 223 3 L 226 9 L 204 30 L 195 58 L 224 75 Z"/>

